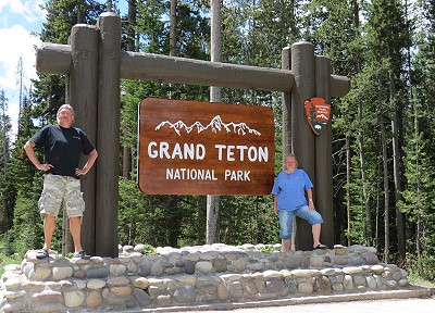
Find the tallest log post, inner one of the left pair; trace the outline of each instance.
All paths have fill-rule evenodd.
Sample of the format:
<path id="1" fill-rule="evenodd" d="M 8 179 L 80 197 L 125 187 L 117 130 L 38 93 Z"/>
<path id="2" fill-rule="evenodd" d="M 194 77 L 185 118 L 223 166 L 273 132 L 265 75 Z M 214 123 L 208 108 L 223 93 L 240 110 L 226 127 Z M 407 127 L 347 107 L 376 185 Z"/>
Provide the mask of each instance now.
<path id="1" fill-rule="evenodd" d="M 96 254 L 117 258 L 121 18 L 100 15 Z"/>

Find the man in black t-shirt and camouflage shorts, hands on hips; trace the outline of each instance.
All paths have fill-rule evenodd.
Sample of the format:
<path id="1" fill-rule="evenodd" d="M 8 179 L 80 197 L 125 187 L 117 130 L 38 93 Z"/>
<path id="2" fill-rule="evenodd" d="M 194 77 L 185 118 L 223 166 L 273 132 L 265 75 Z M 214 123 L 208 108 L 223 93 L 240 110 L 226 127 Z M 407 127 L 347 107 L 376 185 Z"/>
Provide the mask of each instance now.
<path id="1" fill-rule="evenodd" d="M 63 104 L 57 113 L 58 125 L 47 125 L 33 136 L 24 150 L 36 168 L 46 172 L 44 189 L 38 201 L 44 217 L 44 248 L 36 253 L 37 259 L 49 256 L 51 239 L 54 233 L 54 220 L 62 201 L 70 218 L 71 235 L 74 240 L 74 258 L 86 259 L 82 247 L 80 226 L 85 212 L 85 201 L 80 191 L 79 176 L 86 175 L 92 167 L 98 152 L 86 134 L 74 123 L 74 110 Z M 35 148 L 42 148 L 46 163 L 40 163 L 35 155 Z M 80 154 L 88 155 L 83 168 L 78 168 Z"/>

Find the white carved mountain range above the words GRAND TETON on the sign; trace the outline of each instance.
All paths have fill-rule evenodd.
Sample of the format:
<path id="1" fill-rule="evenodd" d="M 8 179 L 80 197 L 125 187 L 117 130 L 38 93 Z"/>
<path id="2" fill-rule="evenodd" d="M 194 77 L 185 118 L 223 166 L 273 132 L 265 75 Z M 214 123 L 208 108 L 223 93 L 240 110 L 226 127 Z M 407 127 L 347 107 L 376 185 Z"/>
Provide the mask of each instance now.
<path id="1" fill-rule="evenodd" d="M 221 118 L 220 115 L 214 116 L 210 123 L 207 126 L 203 126 L 200 122 L 195 122 L 190 126 L 187 126 L 183 121 L 177 121 L 175 123 L 171 123 L 169 121 L 164 121 L 160 123 L 158 126 L 156 126 L 154 130 L 159 130 L 165 125 L 169 125 L 170 128 L 174 129 L 174 132 L 178 135 L 182 136 L 182 130 L 186 130 L 187 134 L 190 134 L 192 130 L 197 129 L 197 134 L 200 134 L 201 132 L 204 132 L 207 129 L 211 129 L 214 134 L 217 134 L 220 132 L 226 132 L 226 133 L 234 133 L 239 136 L 245 136 L 247 134 L 253 134 L 256 136 L 261 136 L 261 133 L 250 128 L 246 123 L 224 123 Z"/>

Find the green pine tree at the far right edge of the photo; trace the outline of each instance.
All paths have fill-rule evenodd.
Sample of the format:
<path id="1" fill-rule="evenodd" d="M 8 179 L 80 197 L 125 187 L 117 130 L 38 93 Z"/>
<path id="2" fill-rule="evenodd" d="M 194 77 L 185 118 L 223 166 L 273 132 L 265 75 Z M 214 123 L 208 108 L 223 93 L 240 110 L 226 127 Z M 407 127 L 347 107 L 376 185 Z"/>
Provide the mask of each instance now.
<path id="1" fill-rule="evenodd" d="M 408 216 L 408 264 L 423 277 L 434 279 L 435 202 L 434 184 L 434 107 L 435 70 L 433 66 L 435 40 L 432 36 L 435 21 L 435 3 L 421 1 L 415 10 L 417 54 L 411 68 L 409 109 L 406 112 L 405 140 L 406 190 L 400 209 Z"/>

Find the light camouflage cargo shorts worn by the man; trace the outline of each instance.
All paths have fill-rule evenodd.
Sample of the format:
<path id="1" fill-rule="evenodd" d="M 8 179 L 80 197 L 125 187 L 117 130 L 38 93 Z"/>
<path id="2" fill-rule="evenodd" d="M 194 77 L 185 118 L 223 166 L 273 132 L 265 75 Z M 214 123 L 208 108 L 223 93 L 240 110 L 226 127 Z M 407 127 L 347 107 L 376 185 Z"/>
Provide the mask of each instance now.
<path id="1" fill-rule="evenodd" d="M 80 179 L 53 174 L 44 176 L 42 193 L 38 201 L 41 216 L 45 214 L 58 216 L 64 201 L 69 217 L 82 217 L 85 212 L 85 201 L 80 191 Z"/>

